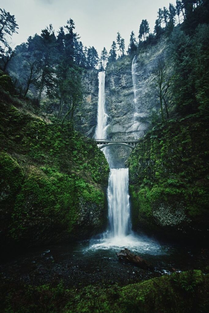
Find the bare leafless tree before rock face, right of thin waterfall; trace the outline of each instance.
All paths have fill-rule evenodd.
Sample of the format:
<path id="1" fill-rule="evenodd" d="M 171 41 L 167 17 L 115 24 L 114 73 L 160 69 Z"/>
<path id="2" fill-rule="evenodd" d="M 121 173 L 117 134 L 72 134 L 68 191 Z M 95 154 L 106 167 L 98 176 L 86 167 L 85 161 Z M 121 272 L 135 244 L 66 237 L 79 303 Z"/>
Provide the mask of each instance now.
<path id="1" fill-rule="evenodd" d="M 163 103 L 165 105 L 167 118 L 169 118 L 168 105 L 165 100 L 165 95 L 168 91 L 168 88 L 170 87 L 171 82 L 171 77 L 169 76 L 168 67 L 165 63 L 165 60 L 160 59 L 158 61 L 156 67 L 153 70 L 153 75 L 153 85 L 156 92 L 155 95 L 160 101 L 160 111 L 163 122 L 165 120 L 163 114 Z"/>

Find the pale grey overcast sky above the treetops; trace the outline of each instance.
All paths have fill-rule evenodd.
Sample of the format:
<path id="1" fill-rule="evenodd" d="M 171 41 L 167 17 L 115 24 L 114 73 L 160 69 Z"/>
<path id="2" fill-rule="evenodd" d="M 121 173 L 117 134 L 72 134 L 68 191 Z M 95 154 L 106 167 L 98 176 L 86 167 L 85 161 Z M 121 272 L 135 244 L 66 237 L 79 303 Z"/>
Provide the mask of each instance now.
<path id="1" fill-rule="evenodd" d="M 72 18 L 76 32 L 84 45 L 94 46 L 98 53 L 105 46 L 109 51 L 119 31 L 128 47 L 130 33 L 136 37 L 142 19 L 147 19 L 151 31 L 159 8 L 168 7 L 169 0 L 1 0 L 1 8 L 15 15 L 18 34 L 12 38 L 13 47 L 40 34 L 49 24 L 57 32 Z"/>

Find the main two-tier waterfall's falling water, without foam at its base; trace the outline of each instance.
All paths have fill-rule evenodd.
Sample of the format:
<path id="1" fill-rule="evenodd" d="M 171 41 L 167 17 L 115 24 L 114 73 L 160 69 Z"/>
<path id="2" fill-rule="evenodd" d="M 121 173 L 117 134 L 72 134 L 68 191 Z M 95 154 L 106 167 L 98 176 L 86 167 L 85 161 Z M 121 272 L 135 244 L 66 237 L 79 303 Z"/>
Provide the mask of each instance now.
<path id="1" fill-rule="evenodd" d="M 99 95 L 97 110 L 97 128 L 95 138 L 105 139 L 107 129 L 107 113 L 105 111 L 105 72 L 99 72 Z M 103 152 L 110 160 L 108 148 Z M 110 163 L 110 162 L 109 162 Z M 122 238 L 130 233 L 130 204 L 128 194 L 128 168 L 112 168 L 108 181 L 108 229 L 107 237 Z"/>

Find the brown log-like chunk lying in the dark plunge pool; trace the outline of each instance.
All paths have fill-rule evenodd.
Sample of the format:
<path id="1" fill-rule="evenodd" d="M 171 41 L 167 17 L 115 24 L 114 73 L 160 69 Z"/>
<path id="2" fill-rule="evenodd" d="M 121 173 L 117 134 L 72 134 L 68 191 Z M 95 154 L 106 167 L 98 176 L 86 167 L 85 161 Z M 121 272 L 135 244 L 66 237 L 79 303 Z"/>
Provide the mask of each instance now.
<path id="1" fill-rule="evenodd" d="M 116 253 L 116 255 L 119 259 L 125 259 L 129 262 L 132 262 L 133 264 L 141 267 L 142 269 L 153 269 L 152 264 L 142 259 L 140 256 L 131 253 L 131 251 L 128 250 L 127 248 L 121 250 L 119 253 Z"/>

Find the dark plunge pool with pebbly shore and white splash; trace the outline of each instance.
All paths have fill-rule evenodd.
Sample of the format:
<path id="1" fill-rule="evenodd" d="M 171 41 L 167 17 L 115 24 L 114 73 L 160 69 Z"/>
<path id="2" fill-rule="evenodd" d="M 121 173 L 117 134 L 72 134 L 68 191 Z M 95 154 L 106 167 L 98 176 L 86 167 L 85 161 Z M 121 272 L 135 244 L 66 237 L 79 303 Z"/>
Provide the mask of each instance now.
<path id="1" fill-rule="evenodd" d="M 122 247 L 152 263 L 154 270 L 118 261 L 116 252 Z M 209 250 L 200 245 L 191 248 L 188 244 L 159 243 L 144 235 L 132 235 L 119 241 L 92 239 L 38 247 L 18 256 L 11 254 L 0 265 L 1 283 L 40 285 L 63 280 L 69 287 L 115 282 L 126 285 L 174 271 L 204 270 L 209 264 L 208 256 Z"/>

